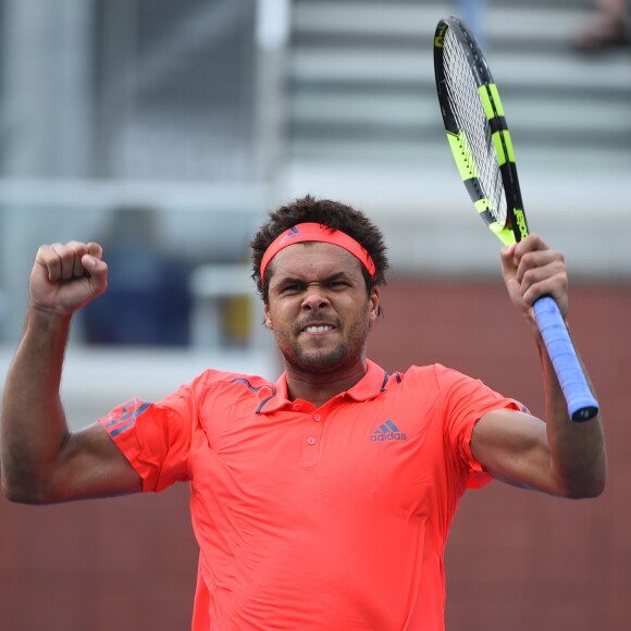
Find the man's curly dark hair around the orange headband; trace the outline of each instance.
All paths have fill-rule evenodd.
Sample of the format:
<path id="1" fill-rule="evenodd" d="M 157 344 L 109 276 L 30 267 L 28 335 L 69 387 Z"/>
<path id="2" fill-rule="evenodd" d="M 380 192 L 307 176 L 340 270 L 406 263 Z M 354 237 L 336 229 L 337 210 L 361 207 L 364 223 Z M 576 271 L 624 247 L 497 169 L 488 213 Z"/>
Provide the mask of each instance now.
<path id="1" fill-rule="evenodd" d="M 386 247 L 383 234 L 360 210 L 330 199 L 316 199 L 307 195 L 270 212 L 268 221 L 250 242 L 252 258 L 252 279 L 257 290 L 267 304 L 269 298 L 269 277 L 261 279 L 261 260 L 272 242 L 284 231 L 298 223 L 321 223 L 339 230 L 352 237 L 370 255 L 375 267 L 375 276 L 371 277 L 362 265 L 368 293 L 378 285 L 385 285 L 385 271 L 388 268 Z M 268 276 L 268 274 L 265 274 Z"/>

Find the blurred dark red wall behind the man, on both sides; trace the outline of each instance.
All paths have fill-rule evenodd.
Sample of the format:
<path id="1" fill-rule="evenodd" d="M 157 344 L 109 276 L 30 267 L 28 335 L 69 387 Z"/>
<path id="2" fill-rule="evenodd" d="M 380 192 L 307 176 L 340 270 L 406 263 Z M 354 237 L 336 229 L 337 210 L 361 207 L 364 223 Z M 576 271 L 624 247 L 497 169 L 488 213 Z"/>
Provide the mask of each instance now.
<path id="1" fill-rule="evenodd" d="M 384 368 L 440 361 L 541 413 L 536 354 L 500 284 L 391 282 L 382 302 L 369 355 Z M 571 307 L 606 419 L 607 490 L 468 493 L 447 545 L 449 631 L 631 629 L 631 286 L 576 286 Z M 0 499 L 3 630 L 185 630 L 195 576 L 184 485 L 54 507 Z"/>

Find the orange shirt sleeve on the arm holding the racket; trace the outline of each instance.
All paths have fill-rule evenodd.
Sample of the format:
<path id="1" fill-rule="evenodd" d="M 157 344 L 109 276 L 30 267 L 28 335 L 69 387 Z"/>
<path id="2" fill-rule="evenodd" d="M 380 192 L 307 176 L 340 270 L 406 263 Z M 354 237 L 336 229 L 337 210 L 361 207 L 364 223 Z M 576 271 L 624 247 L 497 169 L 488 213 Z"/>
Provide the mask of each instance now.
<path id="1" fill-rule="evenodd" d="M 492 477 L 471 451 L 471 436 L 475 423 L 494 409 L 528 412 L 525 406 L 491 389 L 480 380 L 456 370 L 438 367 L 440 387 L 445 405 L 445 438 L 468 471 L 467 487 L 475 488 L 491 482 Z"/>

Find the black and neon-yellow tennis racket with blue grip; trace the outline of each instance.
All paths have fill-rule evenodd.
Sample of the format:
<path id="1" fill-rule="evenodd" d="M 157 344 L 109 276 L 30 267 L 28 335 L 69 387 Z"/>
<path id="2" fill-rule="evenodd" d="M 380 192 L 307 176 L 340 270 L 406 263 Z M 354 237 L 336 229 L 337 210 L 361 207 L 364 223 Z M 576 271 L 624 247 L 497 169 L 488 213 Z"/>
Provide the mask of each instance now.
<path id="1" fill-rule="evenodd" d="M 436 90 L 451 153 L 473 206 L 504 245 L 528 236 L 510 133 L 497 86 L 475 38 L 457 17 L 438 22 L 434 37 Z M 572 421 L 598 413 L 577 351 L 552 296 L 534 314 Z"/>

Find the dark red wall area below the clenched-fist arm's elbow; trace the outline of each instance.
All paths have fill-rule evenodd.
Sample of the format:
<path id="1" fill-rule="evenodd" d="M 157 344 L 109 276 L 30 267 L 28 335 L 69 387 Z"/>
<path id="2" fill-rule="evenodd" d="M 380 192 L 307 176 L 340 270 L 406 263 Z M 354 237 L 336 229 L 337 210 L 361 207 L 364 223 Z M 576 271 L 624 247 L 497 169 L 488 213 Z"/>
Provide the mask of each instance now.
<path id="1" fill-rule="evenodd" d="M 190 629 L 187 488 L 29 507 L 0 499 L 0 629 Z"/>

